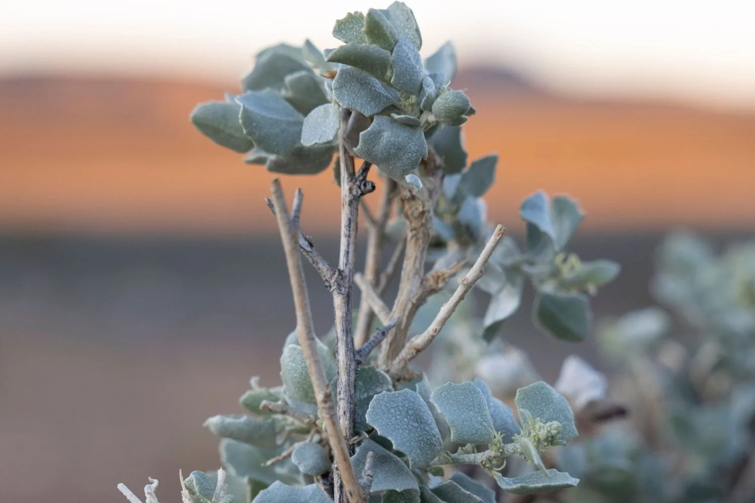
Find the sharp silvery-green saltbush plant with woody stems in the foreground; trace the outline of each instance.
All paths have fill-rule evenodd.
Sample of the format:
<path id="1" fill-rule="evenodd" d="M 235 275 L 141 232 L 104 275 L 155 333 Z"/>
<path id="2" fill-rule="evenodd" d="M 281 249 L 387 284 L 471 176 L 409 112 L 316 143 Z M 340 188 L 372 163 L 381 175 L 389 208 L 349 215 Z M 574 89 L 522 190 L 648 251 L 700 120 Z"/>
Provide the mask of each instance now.
<path id="1" fill-rule="evenodd" d="M 566 197 L 537 192 L 524 201 L 523 249 L 488 222 L 482 196 L 498 157 L 468 160 L 462 125 L 476 110 L 464 90 L 450 87 L 455 50 L 446 43 L 423 59 L 410 8 L 394 2 L 352 12 L 332 33 L 343 42 L 334 49 L 305 41 L 261 51 L 241 94 L 191 114 L 200 132 L 245 154 L 247 164 L 285 175 L 331 167 L 340 187 L 341 247 L 331 265 L 300 229 L 304 195 L 297 189 L 289 207 L 274 179 L 267 204 L 296 308 L 294 333 L 281 337 L 281 385 L 262 388 L 252 378 L 240 398 L 245 414 L 207 420 L 222 438 L 223 468 L 182 477 L 184 503 L 494 503 L 501 491 L 577 486 L 577 478 L 543 461 L 578 436 L 572 408 L 556 389 L 542 381 L 517 389 L 514 413 L 484 379 L 434 386 L 413 361 L 473 290 L 488 299 L 470 347 L 494 340 L 527 283 L 536 292 L 535 324 L 581 341 L 590 328 L 590 296 L 615 278 L 618 265 L 582 262 L 565 251 L 583 218 Z M 380 195 L 371 195 L 378 187 Z M 362 204 L 365 197 L 379 199 L 376 213 Z M 360 209 L 367 253 L 357 273 Z M 322 337 L 313 328 L 302 256 L 333 297 L 334 327 Z M 387 303 L 399 271 L 398 293 Z M 479 467 L 481 476 L 464 467 Z M 156 503 L 156 486 L 146 486 L 147 503 Z"/>

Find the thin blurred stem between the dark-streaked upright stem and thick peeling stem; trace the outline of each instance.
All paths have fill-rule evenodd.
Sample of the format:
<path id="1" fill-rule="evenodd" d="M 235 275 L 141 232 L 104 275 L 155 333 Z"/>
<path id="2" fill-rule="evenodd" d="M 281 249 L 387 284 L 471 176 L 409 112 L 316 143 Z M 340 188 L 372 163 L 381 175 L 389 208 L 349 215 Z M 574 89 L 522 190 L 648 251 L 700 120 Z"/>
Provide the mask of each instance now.
<path id="1" fill-rule="evenodd" d="M 384 189 L 380 201 L 380 209 L 377 219 L 373 219 L 367 231 L 367 253 L 365 256 L 365 281 L 372 287 L 377 284 L 377 267 L 380 265 L 381 252 L 385 237 L 385 227 L 388 223 L 391 207 L 393 207 L 393 191 L 396 189 L 396 182 L 393 179 L 384 177 Z M 365 208 L 366 210 L 366 208 Z M 365 211 L 365 216 L 368 212 Z M 361 348 L 367 341 L 374 312 L 367 299 L 362 296 L 359 300 L 359 317 L 356 320 L 356 332 L 354 333 L 354 345 Z M 385 321 L 383 321 L 385 323 Z"/>

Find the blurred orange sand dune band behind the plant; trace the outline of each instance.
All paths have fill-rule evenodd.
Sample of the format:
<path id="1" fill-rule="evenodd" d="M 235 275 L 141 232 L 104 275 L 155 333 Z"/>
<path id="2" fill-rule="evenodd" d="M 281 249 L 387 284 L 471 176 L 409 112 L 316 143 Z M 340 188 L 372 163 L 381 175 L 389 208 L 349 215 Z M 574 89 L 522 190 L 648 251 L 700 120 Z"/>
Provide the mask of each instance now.
<path id="1" fill-rule="evenodd" d="M 520 201 L 537 189 L 578 198 L 593 230 L 755 222 L 753 115 L 499 93 L 495 83 L 460 80 L 479 110 L 466 126 L 470 155 L 500 155 L 489 214 L 511 228 L 519 228 Z M 222 92 L 165 81 L 0 81 L 0 229 L 273 228 L 262 201 L 273 175 L 242 164 L 188 121 L 197 102 Z M 305 190 L 310 232 L 334 231 L 329 170 L 283 182 L 289 195 Z"/>

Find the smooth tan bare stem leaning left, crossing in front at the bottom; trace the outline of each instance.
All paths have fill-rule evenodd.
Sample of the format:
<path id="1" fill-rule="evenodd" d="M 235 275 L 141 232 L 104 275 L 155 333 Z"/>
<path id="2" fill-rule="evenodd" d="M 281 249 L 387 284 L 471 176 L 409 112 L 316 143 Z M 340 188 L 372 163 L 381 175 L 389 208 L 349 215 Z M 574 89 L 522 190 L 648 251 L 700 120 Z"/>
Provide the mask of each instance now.
<path id="1" fill-rule="evenodd" d="M 288 216 L 288 207 L 286 207 L 283 189 L 278 179 L 273 179 L 271 190 L 273 192 L 273 205 L 276 210 L 278 228 L 283 241 L 283 249 L 285 250 L 288 276 L 291 279 L 291 290 L 294 293 L 296 333 L 301 351 L 304 353 L 304 359 L 307 361 L 307 370 L 310 372 L 317 406 L 325 425 L 325 434 L 327 434 L 328 443 L 330 443 L 335 461 L 341 468 L 341 477 L 344 487 L 349 493 L 350 501 L 352 503 L 364 503 L 359 479 L 356 477 L 351 465 L 349 447 L 346 439 L 341 434 L 341 428 L 339 428 L 337 422 L 330 385 L 325 378 L 325 371 L 322 369 L 322 363 L 320 363 L 317 352 L 317 339 L 312 321 L 310 299 L 307 295 L 307 284 L 304 281 L 304 268 L 301 264 L 299 251 L 297 250 L 299 229 L 291 225 L 291 218 Z M 297 190 L 295 201 L 298 202 L 294 203 L 294 207 L 300 207 L 300 199 L 302 197 L 301 191 Z"/>

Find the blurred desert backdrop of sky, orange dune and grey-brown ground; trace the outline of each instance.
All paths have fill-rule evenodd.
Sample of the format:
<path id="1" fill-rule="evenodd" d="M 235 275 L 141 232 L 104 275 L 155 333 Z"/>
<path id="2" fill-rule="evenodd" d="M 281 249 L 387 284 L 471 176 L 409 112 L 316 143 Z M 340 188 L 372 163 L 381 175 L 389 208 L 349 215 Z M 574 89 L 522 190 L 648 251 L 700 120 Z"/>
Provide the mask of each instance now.
<path id="1" fill-rule="evenodd" d="M 755 3 L 408 5 L 425 55 L 458 49 L 470 156 L 500 156 L 490 218 L 521 236 L 523 198 L 572 195 L 587 215 L 574 251 L 624 266 L 596 318 L 651 302 L 671 228 L 753 232 Z M 273 176 L 188 116 L 239 90 L 261 48 L 334 47 L 334 20 L 370 7 L 0 0 L 0 500 L 124 501 L 117 483 L 152 476 L 179 501 L 179 468 L 217 468 L 202 422 L 240 412 L 251 376 L 277 382 L 293 306 Z M 335 261 L 331 172 L 283 182 Z M 325 333 L 330 296 L 313 275 L 310 289 Z M 527 308 L 504 336 L 546 341 Z M 546 379 L 591 351 L 548 344 Z"/>

